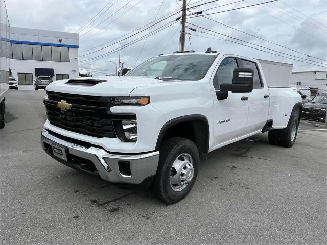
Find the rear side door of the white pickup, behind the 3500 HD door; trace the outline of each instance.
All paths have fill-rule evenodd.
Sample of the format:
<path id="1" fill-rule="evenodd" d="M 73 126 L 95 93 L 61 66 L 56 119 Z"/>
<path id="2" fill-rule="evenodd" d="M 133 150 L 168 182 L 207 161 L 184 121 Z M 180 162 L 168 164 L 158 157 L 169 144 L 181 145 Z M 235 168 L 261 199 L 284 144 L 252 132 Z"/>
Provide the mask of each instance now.
<path id="1" fill-rule="evenodd" d="M 269 90 L 264 84 L 258 64 L 250 60 L 241 60 L 243 68 L 253 69 L 253 90 L 248 93 L 247 128 L 250 132 L 262 130 L 269 114 Z"/>

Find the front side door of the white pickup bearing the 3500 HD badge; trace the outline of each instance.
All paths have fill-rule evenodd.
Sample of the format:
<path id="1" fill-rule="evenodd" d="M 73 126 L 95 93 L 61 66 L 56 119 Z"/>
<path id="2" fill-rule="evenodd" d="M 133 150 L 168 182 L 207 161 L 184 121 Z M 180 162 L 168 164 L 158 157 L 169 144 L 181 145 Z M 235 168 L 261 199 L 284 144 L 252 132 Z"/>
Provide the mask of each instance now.
<path id="1" fill-rule="evenodd" d="M 239 59 L 223 56 L 213 78 L 214 137 L 213 148 L 247 134 L 248 102 L 242 97 L 248 93 L 228 93 L 227 99 L 218 100 L 216 91 L 222 83 L 232 83 L 233 71 L 239 68 Z M 222 145 L 221 145 L 222 146 Z"/>

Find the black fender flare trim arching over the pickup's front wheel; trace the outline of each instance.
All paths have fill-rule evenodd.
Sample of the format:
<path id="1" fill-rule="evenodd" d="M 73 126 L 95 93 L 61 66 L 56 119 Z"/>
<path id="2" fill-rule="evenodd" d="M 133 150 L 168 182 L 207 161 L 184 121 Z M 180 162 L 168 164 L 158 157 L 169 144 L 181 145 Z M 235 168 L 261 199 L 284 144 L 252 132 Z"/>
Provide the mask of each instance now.
<path id="1" fill-rule="evenodd" d="M 159 150 L 162 139 L 164 138 L 165 133 L 167 130 L 176 125 L 179 124 L 180 122 L 185 122 L 185 121 L 192 121 L 192 120 L 201 120 L 206 124 L 207 127 L 207 132 L 208 132 L 208 139 L 207 139 L 207 151 L 209 151 L 209 141 L 210 141 L 210 128 L 209 128 L 209 122 L 206 116 L 200 115 L 200 114 L 194 114 L 194 115 L 185 115 L 185 116 L 179 116 L 174 119 L 171 119 L 167 121 L 164 126 L 162 126 L 158 138 L 157 138 L 157 143 L 155 145 L 155 149 Z"/>

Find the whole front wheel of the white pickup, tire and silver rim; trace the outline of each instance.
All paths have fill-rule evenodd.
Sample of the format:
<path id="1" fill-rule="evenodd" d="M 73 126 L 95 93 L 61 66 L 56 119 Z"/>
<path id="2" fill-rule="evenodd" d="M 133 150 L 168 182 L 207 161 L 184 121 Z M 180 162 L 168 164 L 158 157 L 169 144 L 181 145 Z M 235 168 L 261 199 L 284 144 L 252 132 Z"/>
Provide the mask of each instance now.
<path id="1" fill-rule="evenodd" d="M 173 204 L 191 191 L 199 168 L 199 152 L 189 139 L 174 137 L 160 148 L 157 173 L 151 184 L 152 193 L 160 200 Z"/>

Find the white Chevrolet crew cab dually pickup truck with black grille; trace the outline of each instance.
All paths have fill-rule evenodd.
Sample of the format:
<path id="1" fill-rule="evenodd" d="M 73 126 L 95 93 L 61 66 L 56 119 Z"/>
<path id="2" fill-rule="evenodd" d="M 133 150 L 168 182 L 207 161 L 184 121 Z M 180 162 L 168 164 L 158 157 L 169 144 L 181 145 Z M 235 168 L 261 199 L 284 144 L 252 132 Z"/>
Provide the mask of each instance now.
<path id="1" fill-rule="evenodd" d="M 271 144 L 294 144 L 301 97 L 266 84 L 258 61 L 211 50 L 159 55 L 120 77 L 55 81 L 41 145 L 67 166 L 147 183 L 176 203 L 208 152 L 267 131 Z"/>

